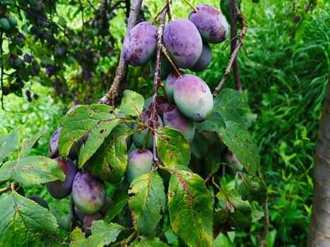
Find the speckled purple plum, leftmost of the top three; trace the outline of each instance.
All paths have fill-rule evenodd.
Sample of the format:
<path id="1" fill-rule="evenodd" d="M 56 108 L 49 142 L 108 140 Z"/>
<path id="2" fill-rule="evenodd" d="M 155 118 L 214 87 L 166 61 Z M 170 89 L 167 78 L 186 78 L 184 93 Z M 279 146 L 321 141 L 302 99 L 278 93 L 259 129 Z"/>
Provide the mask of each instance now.
<path id="1" fill-rule="evenodd" d="M 122 52 L 127 64 L 141 66 L 155 56 L 157 28 L 148 21 L 139 23 L 126 35 Z"/>

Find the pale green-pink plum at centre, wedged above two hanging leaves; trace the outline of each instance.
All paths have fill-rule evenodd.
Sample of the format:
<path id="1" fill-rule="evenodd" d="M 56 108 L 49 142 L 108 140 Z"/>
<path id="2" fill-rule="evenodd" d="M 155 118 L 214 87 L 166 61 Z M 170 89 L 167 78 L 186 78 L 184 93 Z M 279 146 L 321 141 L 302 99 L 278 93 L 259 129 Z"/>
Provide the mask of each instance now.
<path id="1" fill-rule="evenodd" d="M 151 170 L 153 153 L 147 149 L 136 149 L 129 153 L 129 162 L 126 168 L 126 179 L 131 183 L 133 179 Z"/>

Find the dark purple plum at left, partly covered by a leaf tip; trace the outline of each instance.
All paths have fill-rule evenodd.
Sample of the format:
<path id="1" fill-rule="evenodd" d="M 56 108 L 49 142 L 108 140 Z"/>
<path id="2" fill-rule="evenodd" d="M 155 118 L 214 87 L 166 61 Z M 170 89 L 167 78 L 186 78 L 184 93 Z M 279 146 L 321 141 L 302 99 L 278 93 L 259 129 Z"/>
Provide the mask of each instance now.
<path id="1" fill-rule="evenodd" d="M 55 160 L 64 172 L 65 180 L 55 180 L 48 182 L 46 183 L 46 187 L 53 198 L 61 199 L 65 198 L 71 193 L 73 179 L 77 173 L 77 167 L 76 164 L 71 161 L 71 159 L 61 159 L 60 157 L 57 157 Z"/>

